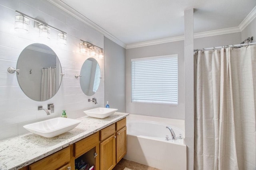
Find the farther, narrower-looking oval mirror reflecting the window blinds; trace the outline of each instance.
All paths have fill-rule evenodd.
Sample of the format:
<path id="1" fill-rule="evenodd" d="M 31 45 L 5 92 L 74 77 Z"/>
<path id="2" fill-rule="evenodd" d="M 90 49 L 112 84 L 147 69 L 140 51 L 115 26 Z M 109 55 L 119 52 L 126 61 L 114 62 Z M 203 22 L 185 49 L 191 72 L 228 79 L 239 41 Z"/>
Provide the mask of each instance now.
<path id="1" fill-rule="evenodd" d="M 100 86 L 100 66 L 94 58 L 84 61 L 80 71 L 80 86 L 87 96 L 96 93 Z"/>

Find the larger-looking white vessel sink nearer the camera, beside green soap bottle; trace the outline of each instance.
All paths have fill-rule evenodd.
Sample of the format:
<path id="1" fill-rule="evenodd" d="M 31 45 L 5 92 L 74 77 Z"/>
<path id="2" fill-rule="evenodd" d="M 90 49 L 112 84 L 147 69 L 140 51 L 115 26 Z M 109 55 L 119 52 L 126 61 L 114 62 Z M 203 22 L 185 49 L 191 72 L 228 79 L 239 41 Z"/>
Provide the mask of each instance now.
<path id="1" fill-rule="evenodd" d="M 34 134 L 50 138 L 74 129 L 79 123 L 81 120 L 57 117 L 23 127 Z"/>

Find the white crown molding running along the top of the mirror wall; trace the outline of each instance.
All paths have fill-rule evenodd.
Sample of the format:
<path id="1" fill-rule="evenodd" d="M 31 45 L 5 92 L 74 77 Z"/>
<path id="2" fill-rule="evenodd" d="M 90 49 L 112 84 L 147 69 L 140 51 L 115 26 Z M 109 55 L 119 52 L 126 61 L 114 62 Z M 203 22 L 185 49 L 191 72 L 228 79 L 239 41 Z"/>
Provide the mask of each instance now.
<path id="1" fill-rule="evenodd" d="M 89 25 L 93 29 L 99 31 L 100 33 L 102 33 L 105 37 L 107 37 L 111 41 L 114 41 L 115 43 L 117 43 L 121 47 L 126 48 L 125 43 L 123 43 L 122 41 L 120 41 L 119 39 L 114 37 L 114 35 L 110 34 L 108 31 L 106 31 L 105 29 L 103 29 L 102 27 L 100 27 L 99 25 L 94 23 L 93 21 L 89 20 L 88 18 L 86 18 L 85 16 L 83 16 L 82 14 L 80 14 L 79 12 L 77 12 L 76 10 L 74 10 L 73 8 L 71 8 L 70 6 L 65 4 L 64 2 L 62 2 L 61 0 L 48 0 L 48 1 L 52 4 L 54 4 L 55 6 L 57 6 L 58 8 L 64 10 L 68 14 L 74 16 L 78 20 L 86 23 L 87 25 Z"/>

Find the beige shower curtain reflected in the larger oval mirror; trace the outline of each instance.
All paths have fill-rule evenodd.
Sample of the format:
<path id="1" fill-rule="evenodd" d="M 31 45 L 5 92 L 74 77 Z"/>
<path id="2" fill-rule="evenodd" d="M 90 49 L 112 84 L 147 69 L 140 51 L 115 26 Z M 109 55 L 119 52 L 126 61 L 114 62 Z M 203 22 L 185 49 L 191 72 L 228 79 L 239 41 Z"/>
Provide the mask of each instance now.
<path id="1" fill-rule="evenodd" d="M 52 98 L 55 94 L 56 67 L 42 69 L 41 101 Z"/>

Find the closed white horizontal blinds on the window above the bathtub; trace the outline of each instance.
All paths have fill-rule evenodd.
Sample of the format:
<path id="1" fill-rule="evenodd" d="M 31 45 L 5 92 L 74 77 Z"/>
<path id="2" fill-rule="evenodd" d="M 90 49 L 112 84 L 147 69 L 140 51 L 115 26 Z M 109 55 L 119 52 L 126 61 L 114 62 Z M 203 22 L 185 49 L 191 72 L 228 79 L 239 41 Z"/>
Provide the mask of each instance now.
<path id="1" fill-rule="evenodd" d="M 132 59 L 132 102 L 178 104 L 178 55 Z"/>

